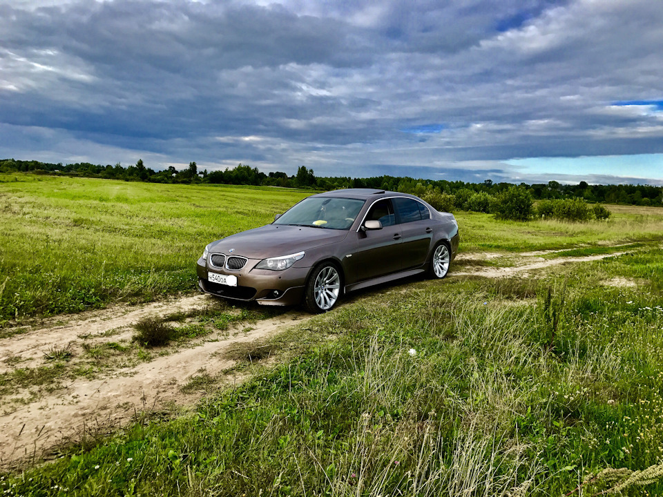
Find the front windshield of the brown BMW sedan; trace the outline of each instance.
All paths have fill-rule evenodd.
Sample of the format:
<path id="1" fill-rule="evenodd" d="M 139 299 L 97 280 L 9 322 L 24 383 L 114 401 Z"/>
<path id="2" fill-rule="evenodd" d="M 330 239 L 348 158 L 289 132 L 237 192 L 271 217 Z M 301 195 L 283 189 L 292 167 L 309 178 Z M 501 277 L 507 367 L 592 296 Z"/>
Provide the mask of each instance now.
<path id="1" fill-rule="evenodd" d="M 347 230 L 364 201 L 340 197 L 309 197 L 290 208 L 273 224 Z"/>

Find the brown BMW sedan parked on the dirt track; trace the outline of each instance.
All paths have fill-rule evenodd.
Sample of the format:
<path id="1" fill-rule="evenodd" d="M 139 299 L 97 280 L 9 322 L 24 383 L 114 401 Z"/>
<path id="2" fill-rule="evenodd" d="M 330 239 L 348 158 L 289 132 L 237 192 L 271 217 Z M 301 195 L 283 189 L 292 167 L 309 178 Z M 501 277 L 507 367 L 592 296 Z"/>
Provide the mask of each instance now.
<path id="1" fill-rule="evenodd" d="M 458 223 L 419 197 L 373 189 L 311 195 L 267 226 L 205 247 L 200 290 L 233 300 L 332 309 L 343 293 L 428 273 L 443 278 Z"/>

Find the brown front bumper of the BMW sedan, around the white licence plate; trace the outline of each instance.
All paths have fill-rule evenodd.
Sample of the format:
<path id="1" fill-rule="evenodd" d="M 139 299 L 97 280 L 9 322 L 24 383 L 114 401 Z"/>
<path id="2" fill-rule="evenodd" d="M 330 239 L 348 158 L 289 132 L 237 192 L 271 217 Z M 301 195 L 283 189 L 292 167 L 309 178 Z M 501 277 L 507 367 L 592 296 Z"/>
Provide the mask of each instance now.
<path id="1" fill-rule="evenodd" d="M 244 302 L 256 300 L 259 304 L 264 305 L 285 306 L 302 302 L 310 268 L 293 266 L 285 271 L 254 269 L 258 262 L 260 261 L 249 259 L 240 271 L 228 271 L 211 266 L 200 257 L 196 263 L 198 288 L 218 297 Z M 208 271 L 237 276 L 237 286 L 210 282 L 207 279 Z"/>

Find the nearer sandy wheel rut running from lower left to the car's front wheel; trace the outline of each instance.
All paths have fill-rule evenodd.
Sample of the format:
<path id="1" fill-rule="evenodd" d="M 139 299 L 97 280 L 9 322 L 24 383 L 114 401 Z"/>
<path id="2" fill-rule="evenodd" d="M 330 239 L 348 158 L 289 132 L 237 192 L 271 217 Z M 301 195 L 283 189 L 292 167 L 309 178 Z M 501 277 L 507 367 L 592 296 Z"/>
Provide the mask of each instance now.
<path id="1" fill-rule="evenodd" d="M 0 416 L 0 467 L 8 469 L 17 461 L 39 460 L 54 447 L 81 440 L 86 430 L 88 434 L 90 429 L 94 433 L 111 432 L 144 409 L 159 411 L 173 402 L 191 405 L 201 393 L 183 393 L 181 387 L 194 376 L 215 376 L 235 366 L 236 360 L 224 357 L 230 349 L 269 338 L 310 317 L 291 311 L 251 324 L 250 331 L 239 336 L 213 337 L 213 341 L 208 337 L 198 346 L 115 371 L 115 376 L 109 378 L 77 378 L 64 389 Z M 236 378 L 238 382 L 242 379 Z"/>

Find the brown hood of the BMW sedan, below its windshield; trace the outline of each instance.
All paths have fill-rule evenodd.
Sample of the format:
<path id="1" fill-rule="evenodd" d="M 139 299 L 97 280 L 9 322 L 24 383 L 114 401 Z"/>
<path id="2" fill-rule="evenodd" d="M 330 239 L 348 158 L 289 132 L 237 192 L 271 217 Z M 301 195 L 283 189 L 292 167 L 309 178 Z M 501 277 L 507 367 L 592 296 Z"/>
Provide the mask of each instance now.
<path id="1" fill-rule="evenodd" d="M 209 251 L 232 253 L 249 259 L 265 259 L 340 242 L 347 233 L 345 230 L 267 224 L 213 242 L 209 246 Z"/>

